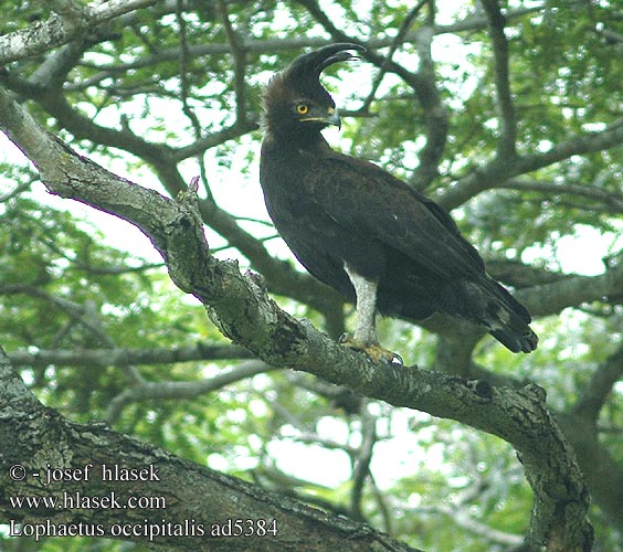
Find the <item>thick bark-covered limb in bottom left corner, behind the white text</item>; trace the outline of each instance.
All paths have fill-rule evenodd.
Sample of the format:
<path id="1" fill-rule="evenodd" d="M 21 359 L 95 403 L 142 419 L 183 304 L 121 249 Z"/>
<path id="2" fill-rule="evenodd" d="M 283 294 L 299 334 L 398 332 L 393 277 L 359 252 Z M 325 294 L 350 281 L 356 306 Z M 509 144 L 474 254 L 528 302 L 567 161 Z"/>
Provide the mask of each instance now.
<path id="1" fill-rule="evenodd" d="M 23 466 L 25 475 L 21 480 L 2 478 L 0 518 L 2 522 L 12 522 L 13 530 L 23 531 L 24 527 L 41 524 L 41 530 L 50 534 L 52 529 L 49 527 L 73 526 L 77 531 L 80 524 L 83 531 L 99 528 L 104 537 L 110 535 L 113 526 L 124 524 L 134 528 L 134 532 L 125 535 L 126 540 L 151 542 L 168 551 L 184 552 L 213 550 L 213 546 L 228 552 L 276 549 L 292 552 L 415 552 L 367 526 L 335 518 L 283 495 L 267 493 L 257 486 L 177 458 L 102 424 L 70 422 L 43 407 L 28 392 L 1 349 L 0 420 L 0 470 L 6 475 L 11 466 Z M 20 439 L 15 440 L 15 435 L 20 435 Z M 144 470 L 149 477 L 129 482 L 118 476 L 115 480 L 103 480 L 104 467 L 108 470 Z M 45 485 L 49 468 L 78 469 L 88 477 L 87 480 Z M 33 473 L 40 476 L 34 477 Z M 9 497 L 18 496 L 56 497 L 60 507 L 14 507 Z M 80 497 L 82 500 L 115 497 L 116 502 L 105 509 L 72 508 L 66 506 L 66 497 L 76 502 Z M 149 500 L 150 506 L 130 508 L 128 500 L 131 499 L 141 499 L 142 503 Z M 228 521 L 235 523 L 235 520 L 241 520 L 243 528 L 251 527 L 245 520 L 253 520 L 257 530 L 274 527 L 276 534 L 261 534 L 256 530 L 244 538 L 222 537 L 222 532 L 221 538 L 213 535 L 213 524 L 222 527 Z M 273 522 L 275 524 L 271 526 Z M 178 532 L 175 532 L 176 528 Z"/>

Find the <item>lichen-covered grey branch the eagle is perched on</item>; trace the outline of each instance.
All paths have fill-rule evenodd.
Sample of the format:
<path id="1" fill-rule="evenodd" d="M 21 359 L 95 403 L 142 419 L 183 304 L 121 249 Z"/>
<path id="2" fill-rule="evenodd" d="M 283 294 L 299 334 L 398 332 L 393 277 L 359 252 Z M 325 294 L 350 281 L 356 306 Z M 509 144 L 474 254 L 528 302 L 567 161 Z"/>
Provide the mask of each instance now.
<path id="1" fill-rule="evenodd" d="M 587 490 L 541 389 L 514 391 L 414 367 L 387 367 L 345 349 L 281 310 L 261 278 L 242 275 L 236 263 L 210 255 L 196 190 L 172 201 L 115 177 L 45 132 L 2 89 L 0 114 L 4 131 L 34 162 L 52 193 L 139 227 L 162 255 L 171 279 L 205 306 L 224 336 L 268 364 L 292 367 L 366 396 L 450 417 L 511 443 L 535 491 L 528 541 L 549 541 L 560 550 L 590 548 Z"/>

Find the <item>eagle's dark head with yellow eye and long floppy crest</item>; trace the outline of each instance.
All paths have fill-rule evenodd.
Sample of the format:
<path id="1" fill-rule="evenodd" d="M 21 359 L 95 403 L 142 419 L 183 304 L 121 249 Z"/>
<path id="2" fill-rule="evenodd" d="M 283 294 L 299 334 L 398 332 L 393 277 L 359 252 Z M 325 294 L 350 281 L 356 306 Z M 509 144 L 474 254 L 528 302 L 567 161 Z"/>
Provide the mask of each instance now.
<path id="1" fill-rule="evenodd" d="M 336 103 L 320 84 L 320 73 L 334 63 L 358 60 L 348 50 L 366 49 L 359 44 L 331 44 L 300 55 L 271 79 L 264 94 L 268 131 L 294 137 L 318 132 L 328 125 L 340 126 Z"/>

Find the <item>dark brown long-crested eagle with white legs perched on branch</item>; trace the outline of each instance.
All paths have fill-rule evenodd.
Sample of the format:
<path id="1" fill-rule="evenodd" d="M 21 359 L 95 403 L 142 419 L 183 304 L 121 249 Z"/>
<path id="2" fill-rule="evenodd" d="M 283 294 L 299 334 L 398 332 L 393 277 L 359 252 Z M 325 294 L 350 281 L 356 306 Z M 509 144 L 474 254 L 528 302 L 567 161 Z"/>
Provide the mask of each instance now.
<path id="1" fill-rule="evenodd" d="M 350 344 L 374 358 L 388 360 L 377 311 L 412 320 L 446 312 L 484 326 L 513 352 L 534 351 L 529 312 L 485 272 L 451 216 L 320 134 L 340 118 L 319 76 L 358 59 L 348 50 L 365 51 L 340 43 L 300 55 L 266 87 L 260 179 L 275 227 L 309 273 L 356 301 Z"/>

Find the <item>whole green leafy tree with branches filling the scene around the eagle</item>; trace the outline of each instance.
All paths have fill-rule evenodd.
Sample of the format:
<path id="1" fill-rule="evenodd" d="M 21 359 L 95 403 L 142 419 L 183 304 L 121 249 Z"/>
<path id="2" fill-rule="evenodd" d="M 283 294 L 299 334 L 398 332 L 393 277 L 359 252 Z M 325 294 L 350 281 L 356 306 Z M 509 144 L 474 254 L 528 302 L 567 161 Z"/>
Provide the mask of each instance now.
<path id="1" fill-rule="evenodd" d="M 617 2 L 0 9 L 0 549 L 623 550 Z M 381 321 L 404 365 L 337 343 L 257 181 L 263 87 L 331 42 L 367 50 L 328 140 L 452 213 L 530 355 L 440 316 Z"/>

